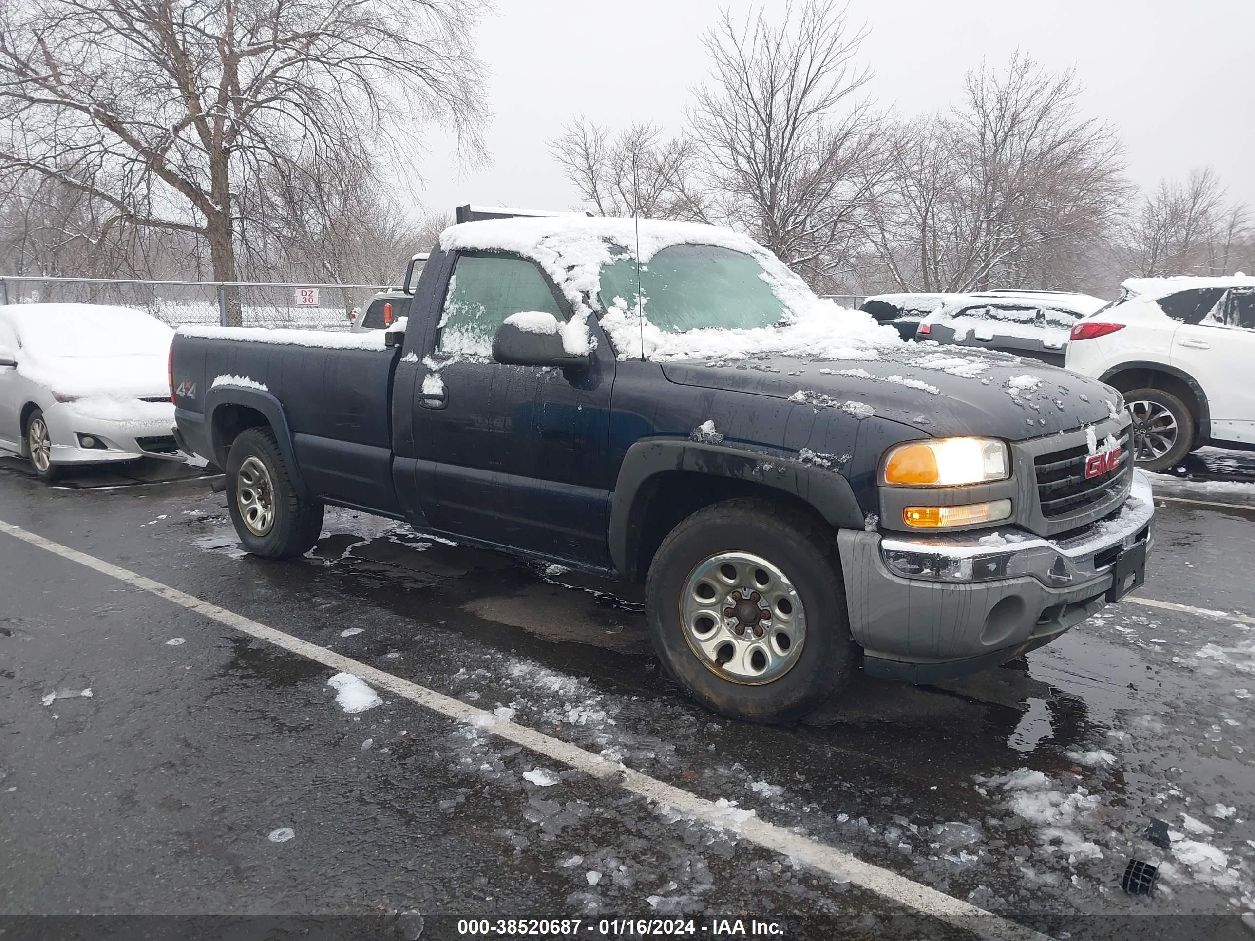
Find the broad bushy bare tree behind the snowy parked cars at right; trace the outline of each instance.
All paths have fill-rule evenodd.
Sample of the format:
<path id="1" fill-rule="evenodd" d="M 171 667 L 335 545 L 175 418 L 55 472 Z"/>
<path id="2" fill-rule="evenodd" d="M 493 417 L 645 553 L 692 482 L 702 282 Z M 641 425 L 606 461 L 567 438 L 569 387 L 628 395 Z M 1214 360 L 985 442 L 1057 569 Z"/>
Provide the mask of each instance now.
<path id="1" fill-rule="evenodd" d="M 1118 138 L 1082 114 L 1074 73 L 1023 54 L 965 88 L 950 114 L 900 129 L 882 262 L 907 290 L 1067 284 L 1130 196 Z"/>

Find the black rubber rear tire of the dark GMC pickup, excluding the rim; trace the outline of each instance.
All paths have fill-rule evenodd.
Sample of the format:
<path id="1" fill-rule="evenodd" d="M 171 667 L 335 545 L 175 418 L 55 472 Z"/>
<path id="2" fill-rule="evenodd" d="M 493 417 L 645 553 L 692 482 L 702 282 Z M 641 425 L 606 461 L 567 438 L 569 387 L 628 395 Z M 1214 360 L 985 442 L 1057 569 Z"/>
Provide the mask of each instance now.
<path id="1" fill-rule="evenodd" d="M 256 473 L 256 467 L 250 459 L 260 462 L 269 482 Z M 241 483 L 241 468 L 246 464 L 248 467 L 245 472 L 245 483 Z M 262 558 L 291 558 L 314 548 L 319 533 L 323 532 L 323 503 L 301 499 L 297 496 L 272 430 L 247 428 L 236 437 L 227 452 L 226 478 L 227 511 L 231 513 L 231 522 L 235 523 L 236 534 L 247 552 Z M 261 486 L 250 486 L 255 479 L 259 479 Z M 272 517 L 269 526 L 262 526 L 259 521 L 256 528 L 261 532 L 254 532 L 245 521 L 246 511 L 241 506 L 241 491 L 256 498 L 245 499 L 250 507 L 266 503 L 269 491 Z"/>

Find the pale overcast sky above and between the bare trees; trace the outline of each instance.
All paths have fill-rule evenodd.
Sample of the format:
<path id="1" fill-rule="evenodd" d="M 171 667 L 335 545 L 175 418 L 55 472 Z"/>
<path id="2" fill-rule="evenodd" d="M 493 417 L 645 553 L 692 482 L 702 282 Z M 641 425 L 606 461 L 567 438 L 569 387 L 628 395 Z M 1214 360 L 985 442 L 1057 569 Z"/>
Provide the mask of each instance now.
<path id="1" fill-rule="evenodd" d="M 778 0 L 769 0 L 778 9 Z M 492 163 L 459 172 L 430 138 L 417 194 L 458 202 L 571 208 L 576 194 L 546 142 L 575 114 L 624 127 L 683 127 L 689 89 L 708 73 L 702 34 L 743 0 L 497 0 L 478 31 L 489 69 Z M 1017 49 L 1074 66 L 1083 108 L 1109 120 L 1141 186 L 1210 164 L 1255 208 L 1255 0 L 851 0 L 870 35 L 868 94 L 909 115 L 959 99 L 966 69 Z"/>

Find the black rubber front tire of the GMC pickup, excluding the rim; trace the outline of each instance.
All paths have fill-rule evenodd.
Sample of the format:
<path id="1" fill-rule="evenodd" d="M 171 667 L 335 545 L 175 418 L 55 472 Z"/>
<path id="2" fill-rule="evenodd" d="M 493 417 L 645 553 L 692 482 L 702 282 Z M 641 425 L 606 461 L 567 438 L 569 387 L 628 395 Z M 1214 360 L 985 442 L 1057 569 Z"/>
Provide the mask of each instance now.
<path id="1" fill-rule="evenodd" d="M 715 673 L 715 666 L 699 657 L 690 641 L 695 635 L 683 624 L 681 605 L 688 597 L 690 575 L 698 577 L 700 566 L 724 552 L 744 552 L 771 562 L 792 583 L 803 606 L 804 639 L 796 660 L 777 679 L 759 685 Z M 700 581 L 697 586 L 700 591 Z M 850 637 L 832 528 L 808 513 L 769 501 L 715 503 L 676 526 L 649 567 L 645 612 L 650 639 L 668 673 L 699 703 L 734 719 L 753 723 L 801 719 L 841 689 L 857 667 L 858 647 Z M 739 615 L 728 620 L 739 625 L 738 619 Z M 723 627 L 712 630 L 719 632 Z M 772 630 L 767 627 L 768 634 Z M 749 647 L 758 642 L 750 641 L 748 632 L 743 640 Z"/>

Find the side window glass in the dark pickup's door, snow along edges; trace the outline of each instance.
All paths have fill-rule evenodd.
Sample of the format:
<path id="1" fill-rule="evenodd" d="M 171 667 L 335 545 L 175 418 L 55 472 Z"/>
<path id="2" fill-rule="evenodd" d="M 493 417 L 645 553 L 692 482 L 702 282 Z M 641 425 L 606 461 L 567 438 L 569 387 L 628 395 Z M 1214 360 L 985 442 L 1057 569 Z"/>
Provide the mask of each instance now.
<path id="1" fill-rule="evenodd" d="M 435 353 L 491 356 L 497 327 L 511 314 L 525 310 L 542 310 L 560 321 L 565 319 L 535 262 L 493 252 L 459 255 L 444 295 Z"/>

